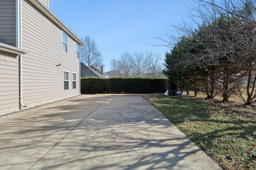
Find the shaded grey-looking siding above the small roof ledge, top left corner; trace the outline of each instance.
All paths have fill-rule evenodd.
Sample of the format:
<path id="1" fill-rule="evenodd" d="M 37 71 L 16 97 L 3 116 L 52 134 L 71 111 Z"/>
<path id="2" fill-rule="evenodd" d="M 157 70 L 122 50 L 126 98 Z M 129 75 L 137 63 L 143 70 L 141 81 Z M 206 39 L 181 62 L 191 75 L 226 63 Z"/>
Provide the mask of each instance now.
<path id="1" fill-rule="evenodd" d="M 0 42 L 16 46 L 16 0 L 0 0 Z"/>

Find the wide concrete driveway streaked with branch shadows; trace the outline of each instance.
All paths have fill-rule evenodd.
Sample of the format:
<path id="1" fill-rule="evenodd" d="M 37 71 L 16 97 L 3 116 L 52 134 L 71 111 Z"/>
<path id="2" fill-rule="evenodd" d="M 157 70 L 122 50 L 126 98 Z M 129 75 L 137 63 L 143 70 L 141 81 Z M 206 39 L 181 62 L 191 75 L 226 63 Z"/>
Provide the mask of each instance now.
<path id="1" fill-rule="evenodd" d="M 0 169 L 220 167 L 141 96 L 84 95 L 0 117 Z"/>

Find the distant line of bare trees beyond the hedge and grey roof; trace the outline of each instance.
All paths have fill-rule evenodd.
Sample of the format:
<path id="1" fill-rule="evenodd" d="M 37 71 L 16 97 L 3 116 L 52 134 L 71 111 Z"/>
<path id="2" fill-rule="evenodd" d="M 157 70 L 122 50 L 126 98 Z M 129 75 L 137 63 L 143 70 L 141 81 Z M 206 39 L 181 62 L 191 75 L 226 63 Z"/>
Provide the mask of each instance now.
<path id="1" fill-rule="evenodd" d="M 101 66 L 104 66 L 104 61 L 96 41 L 89 35 L 81 37 L 81 40 L 85 43 L 81 46 L 81 62 L 100 70 Z M 125 51 L 120 55 L 120 59 L 110 61 L 110 72 L 114 76 L 159 77 L 163 76 L 163 68 L 161 56 L 148 51 L 133 54 Z"/>

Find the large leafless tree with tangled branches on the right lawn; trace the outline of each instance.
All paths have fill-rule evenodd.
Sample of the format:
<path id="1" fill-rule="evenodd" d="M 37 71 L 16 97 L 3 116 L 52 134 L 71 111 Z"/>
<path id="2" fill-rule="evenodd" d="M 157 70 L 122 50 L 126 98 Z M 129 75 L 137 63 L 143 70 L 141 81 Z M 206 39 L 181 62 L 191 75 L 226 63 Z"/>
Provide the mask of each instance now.
<path id="1" fill-rule="evenodd" d="M 244 81 L 249 72 L 246 104 L 253 102 L 251 93 L 255 82 L 250 81 L 252 70 L 256 70 L 256 1 L 255 0 L 196 0 L 198 8 L 190 9 L 195 24 L 171 25 L 161 39 L 167 47 L 176 45 L 184 37 L 188 42 L 179 48 L 184 50 L 183 57 L 174 67 L 186 66 L 187 69 L 218 68 L 218 92 L 223 101 L 228 100 Z M 195 25 L 198 27 L 195 29 Z M 173 30 L 175 30 L 174 34 Z M 178 35 L 178 36 L 177 36 Z M 228 70 L 225 70 L 228 68 Z M 222 71 L 220 71 L 222 70 Z M 223 71 L 224 70 L 224 71 Z M 232 73 L 232 74 L 231 74 Z M 247 74 L 247 75 L 248 75 Z M 210 76 L 210 75 L 209 75 Z M 239 89 L 239 88 L 238 88 Z M 255 92 L 254 92 L 255 93 Z"/>

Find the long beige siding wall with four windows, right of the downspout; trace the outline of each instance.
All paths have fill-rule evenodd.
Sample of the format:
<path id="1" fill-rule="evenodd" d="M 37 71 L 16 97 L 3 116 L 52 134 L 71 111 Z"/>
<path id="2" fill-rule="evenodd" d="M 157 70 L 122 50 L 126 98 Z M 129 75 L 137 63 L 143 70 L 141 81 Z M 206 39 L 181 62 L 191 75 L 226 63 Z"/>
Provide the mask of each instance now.
<path id="1" fill-rule="evenodd" d="M 79 75 L 76 42 L 68 36 L 68 53 L 62 52 L 62 30 L 26 0 L 22 3 L 23 103 L 36 106 L 79 95 L 79 88 L 63 90 L 63 70 Z M 61 64 L 57 67 L 57 64 Z M 79 87 L 79 78 L 77 78 Z"/>

